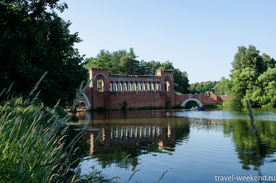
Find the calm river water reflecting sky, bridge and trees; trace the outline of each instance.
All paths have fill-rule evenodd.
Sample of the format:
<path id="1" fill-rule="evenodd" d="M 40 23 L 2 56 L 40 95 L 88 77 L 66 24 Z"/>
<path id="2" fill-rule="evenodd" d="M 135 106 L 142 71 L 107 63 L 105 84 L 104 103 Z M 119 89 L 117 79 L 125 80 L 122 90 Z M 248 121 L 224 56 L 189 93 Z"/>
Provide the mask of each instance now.
<path id="1" fill-rule="evenodd" d="M 215 182 L 221 176 L 274 179 L 276 109 L 256 108 L 253 113 L 255 135 L 247 109 L 75 113 L 69 137 L 81 130 L 86 133 L 77 143 L 74 160 L 79 160 L 73 168 L 81 164 L 83 174 L 95 165 L 106 177 L 118 176 L 121 182 L 138 169 L 129 182 L 157 182 L 166 170 L 160 182 Z M 126 164 L 118 167 L 128 154 Z"/>

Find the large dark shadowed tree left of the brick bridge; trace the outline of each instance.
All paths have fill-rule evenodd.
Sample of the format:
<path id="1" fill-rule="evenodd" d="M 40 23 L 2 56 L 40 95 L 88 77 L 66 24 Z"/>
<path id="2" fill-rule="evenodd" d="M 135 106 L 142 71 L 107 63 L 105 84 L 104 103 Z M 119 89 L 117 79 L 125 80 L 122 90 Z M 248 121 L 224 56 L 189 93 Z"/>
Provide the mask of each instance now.
<path id="1" fill-rule="evenodd" d="M 47 71 L 38 86 L 40 99 L 47 106 L 72 102 L 76 88 L 87 79 L 83 57 L 75 43 L 78 33 L 70 34 L 70 22 L 58 17 L 65 3 L 58 0 L 4 0 L 0 2 L 0 91 L 9 87 L 23 99 Z"/>

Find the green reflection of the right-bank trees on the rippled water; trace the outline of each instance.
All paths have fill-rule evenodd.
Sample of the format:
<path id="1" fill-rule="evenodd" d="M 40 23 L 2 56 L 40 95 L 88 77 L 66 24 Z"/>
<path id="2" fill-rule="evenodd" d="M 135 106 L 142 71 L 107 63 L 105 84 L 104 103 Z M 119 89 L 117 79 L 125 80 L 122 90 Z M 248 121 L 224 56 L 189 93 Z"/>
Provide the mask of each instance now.
<path id="1" fill-rule="evenodd" d="M 256 121 L 257 130 L 251 134 L 250 120 L 223 120 L 224 134 L 233 131 L 233 141 L 236 144 L 237 156 L 242 168 L 249 170 L 253 165 L 258 170 L 264 159 L 274 154 L 276 145 L 276 124 L 272 121 Z"/>

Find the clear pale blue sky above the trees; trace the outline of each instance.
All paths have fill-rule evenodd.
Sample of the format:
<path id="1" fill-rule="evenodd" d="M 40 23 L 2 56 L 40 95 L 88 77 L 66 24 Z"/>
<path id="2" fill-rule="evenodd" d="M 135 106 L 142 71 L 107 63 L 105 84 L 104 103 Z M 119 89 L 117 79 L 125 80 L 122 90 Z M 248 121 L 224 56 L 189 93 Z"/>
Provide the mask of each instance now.
<path id="1" fill-rule="evenodd" d="M 66 0 L 59 16 L 83 40 L 81 55 L 130 47 L 138 60 L 169 60 L 190 83 L 228 78 L 237 47 L 276 57 L 275 0 Z"/>

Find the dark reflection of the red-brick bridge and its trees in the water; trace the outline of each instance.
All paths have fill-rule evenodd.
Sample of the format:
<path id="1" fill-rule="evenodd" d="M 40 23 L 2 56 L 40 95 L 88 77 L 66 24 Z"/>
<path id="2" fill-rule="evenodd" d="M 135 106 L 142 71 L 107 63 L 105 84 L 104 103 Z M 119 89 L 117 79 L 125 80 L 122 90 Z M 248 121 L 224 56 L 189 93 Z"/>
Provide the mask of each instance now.
<path id="1" fill-rule="evenodd" d="M 128 112 L 128 113 L 127 113 Z M 111 113 L 111 114 L 110 114 Z M 102 168 L 112 163 L 119 164 L 122 157 L 130 155 L 128 162 L 132 169 L 138 165 L 141 154 L 166 153 L 172 155 L 177 145 L 176 141 L 189 138 L 189 121 L 172 116 L 164 111 L 110 111 L 78 112 L 70 126 L 70 133 L 84 130 L 83 141 L 89 141 L 89 154 L 97 158 Z M 94 141 L 102 123 L 108 119 L 99 138 Z M 182 123 L 175 130 L 175 123 Z M 88 150 L 83 151 L 81 160 L 88 156 Z"/>

